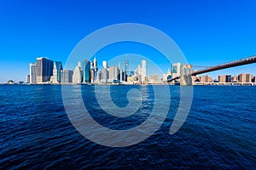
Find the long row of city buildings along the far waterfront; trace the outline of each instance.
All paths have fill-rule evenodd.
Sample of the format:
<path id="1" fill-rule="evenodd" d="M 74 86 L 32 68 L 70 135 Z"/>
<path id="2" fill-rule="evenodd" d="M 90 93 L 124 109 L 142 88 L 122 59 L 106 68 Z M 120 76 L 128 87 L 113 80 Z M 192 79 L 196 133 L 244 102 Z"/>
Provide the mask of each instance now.
<path id="1" fill-rule="evenodd" d="M 26 83 L 40 84 L 40 83 L 165 83 L 173 77 L 184 74 L 183 68 L 191 69 L 191 65 L 182 65 L 181 63 L 173 63 L 171 71 L 169 69 L 162 75 L 147 73 L 149 69 L 146 67 L 147 60 L 142 59 L 141 64 L 137 65 L 135 70 L 129 69 L 129 60 L 125 58 L 125 70 L 122 69 L 122 62 L 118 65 L 108 65 L 108 61 L 102 60 L 98 62 L 96 55 L 93 60 L 84 59 L 73 70 L 63 69 L 61 61 L 53 61 L 45 57 L 37 58 L 37 63 L 29 64 L 29 75 L 26 77 Z M 82 63 L 82 65 L 81 65 Z M 102 67 L 98 65 L 102 63 Z M 189 72 L 195 70 L 189 70 Z M 12 83 L 13 81 L 9 81 Z M 9 83 L 8 82 L 8 83 Z M 178 79 L 177 82 L 180 82 Z M 172 81 L 173 83 L 177 83 Z M 198 82 L 256 82 L 256 77 L 251 73 L 240 73 L 239 75 L 218 75 L 218 78 L 212 78 L 207 74 L 192 76 L 192 84 Z"/>

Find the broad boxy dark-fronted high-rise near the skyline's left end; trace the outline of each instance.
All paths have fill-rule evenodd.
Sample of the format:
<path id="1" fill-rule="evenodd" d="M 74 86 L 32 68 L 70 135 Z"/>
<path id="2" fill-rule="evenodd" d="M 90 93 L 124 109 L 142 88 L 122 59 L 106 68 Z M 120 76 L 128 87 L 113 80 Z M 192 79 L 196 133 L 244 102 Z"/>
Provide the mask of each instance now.
<path id="1" fill-rule="evenodd" d="M 49 82 L 53 76 L 53 61 L 47 58 L 37 58 L 37 82 Z"/>

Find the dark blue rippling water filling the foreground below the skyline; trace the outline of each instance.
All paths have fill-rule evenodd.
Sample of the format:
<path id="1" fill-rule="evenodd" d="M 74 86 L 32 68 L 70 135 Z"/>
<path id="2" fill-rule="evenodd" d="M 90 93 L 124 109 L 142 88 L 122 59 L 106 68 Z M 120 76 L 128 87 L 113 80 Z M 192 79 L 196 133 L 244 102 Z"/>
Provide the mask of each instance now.
<path id="1" fill-rule="evenodd" d="M 115 129 L 145 121 L 152 87 L 113 86 L 113 102 L 127 105 L 124 95 L 131 88 L 148 90 L 137 116 L 122 122 L 99 108 L 96 121 Z M 0 86 L 0 169 L 255 169 L 256 87 L 195 87 L 189 116 L 173 135 L 179 87 L 170 88 L 172 107 L 160 129 L 139 144 L 112 148 L 77 132 L 65 112 L 61 86 Z M 93 92 L 93 86 L 82 87 L 89 108 L 96 106 Z"/>

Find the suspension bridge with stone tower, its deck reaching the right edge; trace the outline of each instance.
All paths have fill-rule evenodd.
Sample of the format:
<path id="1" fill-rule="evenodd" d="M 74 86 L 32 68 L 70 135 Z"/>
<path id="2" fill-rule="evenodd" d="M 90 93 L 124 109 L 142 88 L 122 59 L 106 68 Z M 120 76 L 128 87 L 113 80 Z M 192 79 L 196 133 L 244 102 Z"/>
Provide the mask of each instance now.
<path id="1" fill-rule="evenodd" d="M 196 76 L 196 75 L 211 72 L 211 71 L 223 70 L 223 69 L 236 67 L 240 65 L 248 65 L 252 63 L 256 63 L 256 55 L 253 55 L 251 57 L 247 57 L 244 59 L 230 61 L 220 65 L 210 66 L 210 67 L 207 67 L 206 69 L 202 69 L 199 71 L 192 71 L 192 65 L 181 65 L 180 76 L 172 77 L 171 79 L 167 80 L 167 82 L 172 82 L 174 80 L 180 79 L 180 85 L 182 86 L 192 85 L 192 76 Z"/>

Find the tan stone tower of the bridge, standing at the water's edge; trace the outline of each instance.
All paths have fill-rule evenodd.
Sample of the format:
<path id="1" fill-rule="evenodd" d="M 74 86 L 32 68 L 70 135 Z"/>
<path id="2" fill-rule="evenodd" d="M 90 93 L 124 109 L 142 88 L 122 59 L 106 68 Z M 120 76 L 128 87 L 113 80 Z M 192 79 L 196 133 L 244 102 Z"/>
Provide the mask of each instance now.
<path id="1" fill-rule="evenodd" d="M 180 66 L 180 85 L 181 86 L 192 86 L 191 71 L 192 71 L 192 65 Z"/>

